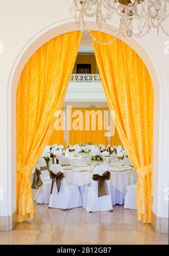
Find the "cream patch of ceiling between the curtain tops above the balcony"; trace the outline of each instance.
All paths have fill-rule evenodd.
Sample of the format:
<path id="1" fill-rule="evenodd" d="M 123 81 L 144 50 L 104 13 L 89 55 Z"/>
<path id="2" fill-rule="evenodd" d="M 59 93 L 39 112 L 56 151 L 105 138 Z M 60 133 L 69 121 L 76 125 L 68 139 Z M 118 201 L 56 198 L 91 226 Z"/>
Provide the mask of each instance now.
<path id="1" fill-rule="evenodd" d="M 94 54 L 90 31 L 83 32 L 78 54 Z"/>

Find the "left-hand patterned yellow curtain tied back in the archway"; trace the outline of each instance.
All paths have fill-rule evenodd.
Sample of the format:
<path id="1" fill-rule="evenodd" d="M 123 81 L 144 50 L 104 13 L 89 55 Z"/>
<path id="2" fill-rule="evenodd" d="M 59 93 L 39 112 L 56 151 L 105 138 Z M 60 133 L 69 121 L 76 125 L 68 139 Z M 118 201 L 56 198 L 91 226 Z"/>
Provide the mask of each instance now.
<path id="1" fill-rule="evenodd" d="M 17 221 L 33 218 L 30 174 L 54 129 L 77 56 L 81 32 L 62 34 L 26 63 L 17 86 Z"/>

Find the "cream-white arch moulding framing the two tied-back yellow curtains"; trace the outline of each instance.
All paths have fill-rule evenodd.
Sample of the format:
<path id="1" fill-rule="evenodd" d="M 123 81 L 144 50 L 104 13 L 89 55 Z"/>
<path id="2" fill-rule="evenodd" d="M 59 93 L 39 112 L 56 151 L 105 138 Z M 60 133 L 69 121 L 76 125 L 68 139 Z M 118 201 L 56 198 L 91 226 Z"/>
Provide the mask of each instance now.
<path id="1" fill-rule="evenodd" d="M 115 24 L 111 24 L 112 28 Z M 64 20 L 59 23 L 50 25 L 44 28 L 39 33 L 35 34 L 33 38 L 30 38 L 29 42 L 19 52 L 15 63 L 13 64 L 10 77 L 8 80 L 8 184 L 10 193 L 8 195 L 9 209 L 11 213 L 16 209 L 16 89 L 17 83 L 21 71 L 24 65 L 29 60 L 30 56 L 44 43 L 50 39 L 59 36 L 60 34 L 78 30 L 74 20 Z M 94 21 L 87 21 L 86 30 L 97 30 L 96 23 Z M 110 31 L 103 27 L 102 32 L 110 33 Z M 150 50 L 146 48 L 144 43 L 140 39 L 127 38 L 124 41 L 127 45 L 133 48 L 140 58 L 144 61 L 146 67 L 149 70 L 150 77 L 152 78 L 154 88 L 154 167 L 153 167 L 153 196 L 158 198 L 158 176 L 160 176 L 161 158 L 159 152 L 162 145 L 162 79 L 159 73 L 158 65 L 155 64 L 153 55 Z M 158 200 L 154 200 L 153 208 L 157 208 Z"/>

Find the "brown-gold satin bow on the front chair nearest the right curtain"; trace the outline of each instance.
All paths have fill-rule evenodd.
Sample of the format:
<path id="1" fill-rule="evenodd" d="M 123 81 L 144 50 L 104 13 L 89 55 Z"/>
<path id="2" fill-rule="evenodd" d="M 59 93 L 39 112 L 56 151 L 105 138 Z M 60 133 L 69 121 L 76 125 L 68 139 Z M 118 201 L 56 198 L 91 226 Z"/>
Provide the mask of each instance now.
<path id="1" fill-rule="evenodd" d="M 105 171 L 102 176 L 99 174 L 93 175 L 93 180 L 98 180 L 98 197 L 109 195 L 108 185 L 105 180 L 110 179 L 110 171 Z"/>

